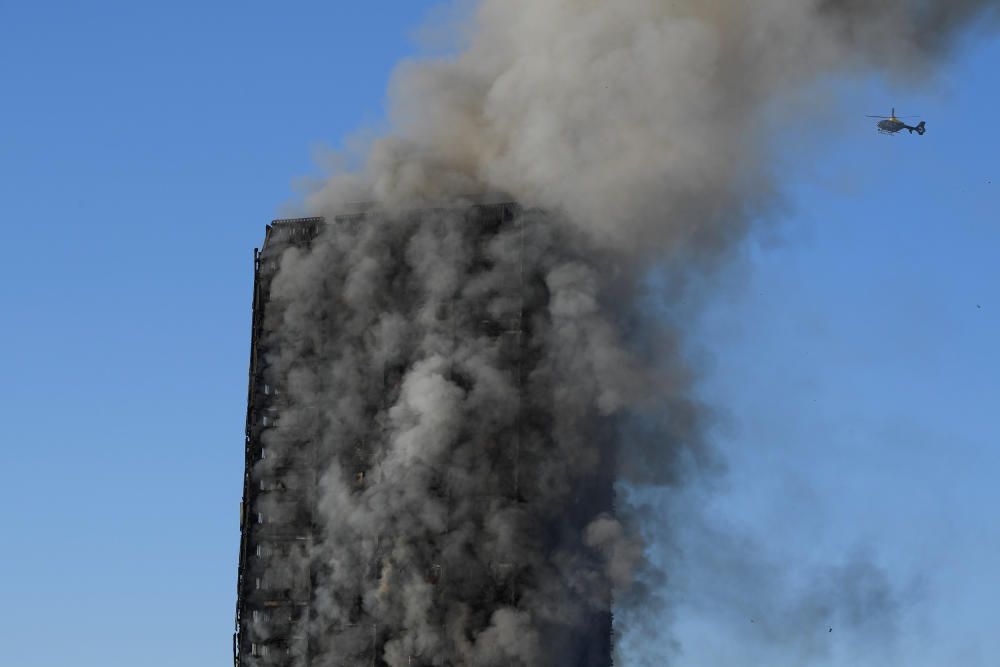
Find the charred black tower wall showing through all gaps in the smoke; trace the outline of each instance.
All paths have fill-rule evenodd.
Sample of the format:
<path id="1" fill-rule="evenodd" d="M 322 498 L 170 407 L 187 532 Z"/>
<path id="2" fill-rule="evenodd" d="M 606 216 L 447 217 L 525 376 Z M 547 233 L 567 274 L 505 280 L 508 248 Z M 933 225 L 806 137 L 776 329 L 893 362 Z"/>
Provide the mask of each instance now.
<path id="1" fill-rule="evenodd" d="M 414 212 L 410 215 L 431 216 L 438 212 Z M 372 212 L 355 212 L 338 216 L 329 224 L 364 225 L 380 224 L 380 216 Z M 481 235 L 482 245 L 502 229 L 516 225 L 523 243 L 530 238 L 524 234 L 524 220 L 521 210 L 514 204 L 491 204 L 473 206 L 465 212 L 468 224 L 475 233 Z M 281 318 L 267 317 L 271 281 L 279 269 L 281 256 L 291 247 L 308 248 L 317 241 L 325 225 L 322 218 L 276 220 L 268 225 L 263 247 L 254 254 L 253 324 L 251 333 L 249 389 L 247 399 L 247 420 L 245 440 L 245 473 L 243 502 L 241 505 L 241 540 L 239 578 L 236 608 L 236 633 L 233 638 L 235 667 L 287 666 L 305 667 L 319 665 L 384 665 L 386 642 L 391 637 L 384 630 L 385 624 L 373 618 L 363 609 L 362 601 L 356 609 L 347 614 L 348 620 L 339 626 L 323 627 L 317 624 L 316 605 L 318 600 L 349 597 L 349 591 L 323 590 L 327 577 L 319 549 L 322 536 L 317 531 L 320 523 L 317 507 L 318 476 L 322 474 L 328 461 L 321 453 L 321 445 L 314 442 L 296 442 L 293 447 L 275 446 L 275 424 L 283 412 L 287 400 L 281 386 L 281 379 L 269 372 L 267 359 L 276 353 L 273 341 L 280 336 L 270 328 L 280 326 Z M 523 253 L 522 253 L 523 255 Z M 514 298 L 520 302 L 520 314 L 507 312 L 500 318 L 487 314 L 463 313 L 465 320 L 478 318 L 475 329 L 478 336 L 495 342 L 500 358 L 507 359 L 508 372 L 516 378 L 513 384 L 521 387 L 521 378 L 531 372 L 535 361 L 530 360 L 526 350 L 526 340 L 531 337 L 531 320 L 539 311 L 547 307 L 547 297 L 537 295 L 544 292 L 538 284 L 529 284 L 533 279 L 522 268 L 515 285 Z M 538 283 L 538 281 L 535 281 Z M 528 294 L 532 296 L 527 296 Z M 447 306 L 446 306 L 447 307 Z M 517 311 L 514 308 L 513 311 Z M 452 317 L 452 313 L 440 313 L 442 319 Z M 271 346 L 269 349 L 268 346 Z M 287 351 L 287 350 L 286 350 Z M 405 368 L 387 366 L 382 371 L 377 391 L 383 408 L 391 405 L 398 392 L 400 378 Z M 461 382 L 461 378 L 454 378 Z M 394 389 L 395 388 L 395 389 Z M 521 394 L 524 395 L 523 392 Z M 493 447 L 493 453 L 484 452 L 492 468 L 488 478 L 480 480 L 473 496 L 465 497 L 464 503 L 490 503 L 491 497 L 503 496 L 517 502 L 527 502 L 534 485 L 543 483 L 534 470 L 537 458 L 544 456 L 544 447 L 531 450 L 522 448 L 521 440 L 528 437 L 538 439 L 544 433 L 549 416 L 537 405 L 523 409 L 520 425 L 499 437 L 513 443 L 508 448 Z M 527 435 L 530 430 L 534 436 Z M 543 436 L 544 439 L 544 436 Z M 269 446 L 270 445 L 270 446 Z M 341 465 L 351 468 L 358 489 L 369 483 L 369 444 L 363 440 L 342 447 Z M 541 453 L 540 453 L 541 452 Z M 353 458 L 352 458 L 353 457 Z M 613 478 L 610 471 L 614 461 L 603 461 L 606 476 L 597 476 L 586 483 L 586 488 L 577 492 L 575 507 L 578 517 L 560 519 L 560 528 L 579 534 L 588 517 L 602 512 L 612 512 L 614 505 Z M 451 495 L 453 486 L 448 480 L 431 476 L 430 492 L 449 502 L 458 502 Z M 525 500 L 526 499 L 526 500 Z M 525 505 L 527 506 L 527 505 Z M 558 539 L 558 530 L 553 530 L 553 540 Z M 426 581 L 438 588 L 442 594 L 453 590 L 449 580 L 456 575 L 444 571 L 440 565 L 432 565 L 426 573 Z M 522 564 L 512 562 L 492 562 L 489 572 L 482 573 L 481 581 L 486 582 L 477 594 L 478 604 L 489 609 L 516 608 L 521 590 L 526 582 L 537 580 L 537 573 L 526 571 Z M 372 563 L 366 572 L 358 577 L 378 578 L 381 573 L 379 562 Z M 471 575 L 470 575 L 471 576 Z M 537 581 L 534 583 L 537 584 Z M 539 627 L 538 631 L 551 644 L 565 646 L 560 656 L 561 665 L 574 667 L 607 667 L 611 664 L 612 617 L 610 600 L 604 610 L 586 612 L 583 630 L 561 630 L 553 627 Z M 489 617 L 489 614 L 486 614 Z M 560 635 L 560 633 L 566 636 Z M 324 635 L 320 637 L 319 635 Z M 330 654 L 332 642 L 343 649 L 340 657 Z M 322 645 L 322 648 L 319 648 Z M 347 657 L 348 654 L 352 657 Z M 431 664 L 421 656 L 412 655 L 411 665 Z"/>

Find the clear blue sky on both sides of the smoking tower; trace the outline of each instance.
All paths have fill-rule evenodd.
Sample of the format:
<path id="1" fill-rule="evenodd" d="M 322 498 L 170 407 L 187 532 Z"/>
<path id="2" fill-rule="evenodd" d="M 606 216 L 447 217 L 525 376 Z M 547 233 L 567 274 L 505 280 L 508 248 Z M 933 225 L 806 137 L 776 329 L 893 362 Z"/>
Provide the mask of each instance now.
<path id="1" fill-rule="evenodd" d="M 0 1 L 3 664 L 231 659 L 252 250 L 434 4 Z M 887 664 L 1000 664 L 998 65 L 981 38 L 922 91 L 838 83 L 692 323 L 729 462 L 704 520 L 884 567 Z M 876 135 L 892 105 L 927 135 Z M 679 612 L 682 667 L 778 664 Z M 801 664 L 864 662 L 835 637 Z"/>

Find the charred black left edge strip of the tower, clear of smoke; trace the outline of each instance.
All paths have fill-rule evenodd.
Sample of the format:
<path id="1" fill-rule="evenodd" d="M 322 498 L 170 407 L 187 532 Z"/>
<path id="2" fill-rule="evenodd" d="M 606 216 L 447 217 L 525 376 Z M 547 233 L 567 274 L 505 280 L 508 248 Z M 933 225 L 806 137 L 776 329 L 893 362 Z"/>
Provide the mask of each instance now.
<path id="1" fill-rule="evenodd" d="M 281 253 L 307 247 L 322 218 L 275 220 L 263 248 L 254 251 L 253 315 L 247 395 L 245 470 L 240 506 L 240 560 L 237 581 L 236 667 L 290 665 L 306 654 L 301 621 L 312 595 L 309 562 L 313 540 L 315 469 L 310 443 L 297 456 L 268 451 L 267 433 L 278 418 L 281 387 L 268 373 L 264 344 L 271 279 Z M 271 448 L 274 449 L 273 447 Z"/>

